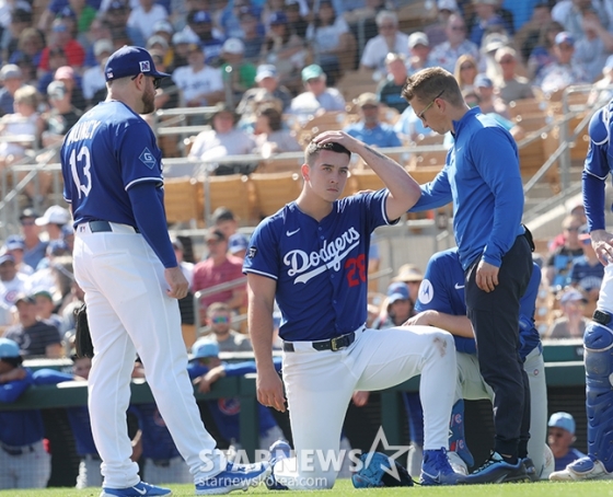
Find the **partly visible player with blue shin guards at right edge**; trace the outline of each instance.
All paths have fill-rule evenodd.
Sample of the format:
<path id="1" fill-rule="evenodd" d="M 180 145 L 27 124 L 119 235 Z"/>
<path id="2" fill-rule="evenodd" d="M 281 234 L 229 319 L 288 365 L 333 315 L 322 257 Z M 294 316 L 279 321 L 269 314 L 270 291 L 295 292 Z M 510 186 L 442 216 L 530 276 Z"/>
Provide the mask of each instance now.
<path id="1" fill-rule="evenodd" d="M 583 167 L 588 229 L 592 246 L 604 265 L 597 309 L 583 335 L 588 455 L 552 473 L 550 479 L 555 481 L 613 478 L 613 233 L 606 230 L 604 220 L 605 184 L 613 171 L 612 128 L 613 102 L 609 102 L 590 120 L 590 148 Z"/>

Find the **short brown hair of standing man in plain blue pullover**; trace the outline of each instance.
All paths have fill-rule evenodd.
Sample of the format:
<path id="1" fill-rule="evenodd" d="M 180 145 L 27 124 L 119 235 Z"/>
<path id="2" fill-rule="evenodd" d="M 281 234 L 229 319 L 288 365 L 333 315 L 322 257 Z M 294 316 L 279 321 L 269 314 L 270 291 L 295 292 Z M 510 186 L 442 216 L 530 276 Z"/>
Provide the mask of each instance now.
<path id="1" fill-rule="evenodd" d="M 441 95 L 442 93 L 444 94 Z M 401 94 L 408 103 L 413 99 L 426 103 L 435 100 L 437 95 L 441 95 L 451 105 L 460 106 L 463 104 L 462 92 L 455 77 L 440 67 L 421 69 L 409 76 Z"/>

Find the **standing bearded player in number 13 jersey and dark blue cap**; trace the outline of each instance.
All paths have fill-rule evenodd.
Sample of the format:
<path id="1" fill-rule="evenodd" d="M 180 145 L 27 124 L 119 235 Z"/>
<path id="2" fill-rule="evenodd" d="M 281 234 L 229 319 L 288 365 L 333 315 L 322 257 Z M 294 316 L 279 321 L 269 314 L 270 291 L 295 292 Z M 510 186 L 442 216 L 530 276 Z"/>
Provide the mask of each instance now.
<path id="1" fill-rule="evenodd" d="M 74 276 L 85 292 L 95 357 L 89 378 L 92 434 L 103 496 L 158 496 L 130 460 L 126 409 L 136 355 L 155 403 L 189 466 L 196 494 L 242 489 L 268 464 L 228 463 L 205 430 L 187 375 L 177 299 L 188 282 L 166 229 L 161 151 L 139 114 L 154 109 L 167 74 L 151 55 L 124 46 L 104 70 L 108 96 L 85 113 L 61 148 L 63 196 L 74 218 Z"/>

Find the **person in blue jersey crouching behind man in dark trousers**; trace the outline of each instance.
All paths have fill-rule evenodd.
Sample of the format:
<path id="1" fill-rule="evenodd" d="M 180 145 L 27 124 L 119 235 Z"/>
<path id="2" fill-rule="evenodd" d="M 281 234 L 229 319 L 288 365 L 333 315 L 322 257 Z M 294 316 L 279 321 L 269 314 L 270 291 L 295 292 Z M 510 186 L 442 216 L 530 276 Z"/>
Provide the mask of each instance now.
<path id="1" fill-rule="evenodd" d="M 541 268 L 534 264 L 532 277 L 525 293 L 520 300 L 520 358 L 530 380 L 531 430 L 527 454 L 522 452 L 524 465 L 533 479 L 543 476 L 543 449 L 546 442 L 547 424 L 547 385 L 545 382 L 545 365 L 543 346 L 539 332 L 534 327 L 534 309 L 541 284 Z M 463 439 L 463 402 L 478 398 L 493 398 L 491 389 L 484 382 L 475 358 L 476 348 L 473 328 L 466 317 L 464 300 L 464 270 L 460 264 L 458 248 L 438 252 L 428 262 L 419 294 L 415 303 L 417 314 L 408 320 L 408 324 L 438 326 L 453 335 L 458 350 L 458 403 L 451 420 L 450 450 L 455 451 L 467 465 L 472 458 L 466 452 Z M 458 416 L 460 415 L 460 416 Z M 527 438 L 524 434 L 523 438 Z M 522 442 L 525 447 L 525 442 Z M 465 454 L 469 454 L 466 458 Z M 522 475 L 521 475 L 522 476 Z"/>

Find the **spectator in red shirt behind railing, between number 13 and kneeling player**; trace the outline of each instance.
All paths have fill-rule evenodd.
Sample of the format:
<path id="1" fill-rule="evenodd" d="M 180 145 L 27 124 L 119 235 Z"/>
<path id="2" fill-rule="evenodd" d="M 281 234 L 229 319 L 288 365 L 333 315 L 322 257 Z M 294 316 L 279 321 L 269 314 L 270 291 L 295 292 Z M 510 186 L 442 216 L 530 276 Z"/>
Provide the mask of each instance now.
<path id="1" fill-rule="evenodd" d="M 208 230 L 205 242 L 209 256 L 194 267 L 194 292 L 243 278 L 243 259 L 228 253 L 228 239 L 222 231 Z M 203 298 L 200 322 L 205 322 L 207 308 L 213 302 L 223 302 L 233 311 L 240 312 L 246 303 L 245 284 Z"/>

